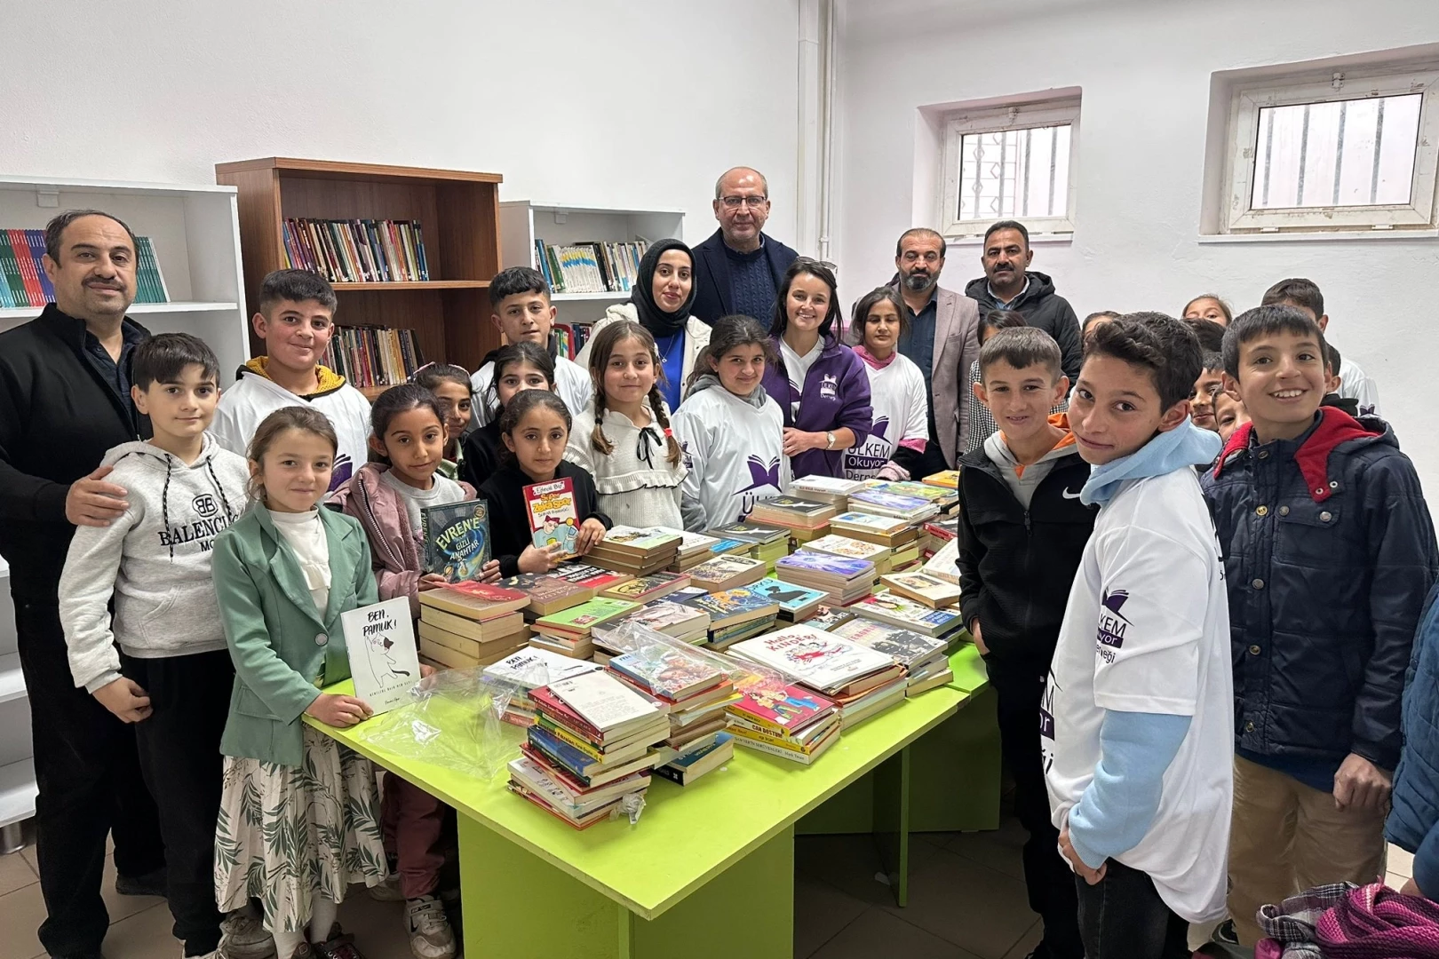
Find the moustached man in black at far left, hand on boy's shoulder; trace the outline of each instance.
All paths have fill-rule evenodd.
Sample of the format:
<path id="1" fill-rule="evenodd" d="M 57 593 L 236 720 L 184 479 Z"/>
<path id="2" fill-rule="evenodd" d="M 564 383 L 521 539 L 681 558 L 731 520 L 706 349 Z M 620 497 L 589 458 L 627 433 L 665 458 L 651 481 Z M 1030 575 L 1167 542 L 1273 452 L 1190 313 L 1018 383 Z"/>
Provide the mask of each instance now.
<path id="1" fill-rule="evenodd" d="M 71 959 L 99 956 L 109 926 L 99 893 L 106 834 L 117 891 L 164 894 L 164 845 L 134 730 L 75 687 L 56 598 L 75 525 L 104 526 L 125 512 L 125 490 L 95 466 L 150 431 L 130 398 L 130 354 L 150 334 L 125 316 L 135 298 L 130 227 L 95 210 L 63 213 L 45 244 L 55 303 L 0 334 L 0 555 L 35 738 L 49 912 L 40 942 Z"/>

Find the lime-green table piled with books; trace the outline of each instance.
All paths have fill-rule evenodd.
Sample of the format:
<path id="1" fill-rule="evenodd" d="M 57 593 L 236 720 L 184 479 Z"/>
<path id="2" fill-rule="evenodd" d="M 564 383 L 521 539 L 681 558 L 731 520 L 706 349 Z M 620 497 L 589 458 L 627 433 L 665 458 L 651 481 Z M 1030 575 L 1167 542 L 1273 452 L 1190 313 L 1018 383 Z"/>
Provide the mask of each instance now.
<path id="1" fill-rule="evenodd" d="M 905 904 L 909 746 L 967 696 L 945 686 L 907 700 L 846 730 L 812 766 L 737 748 L 692 786 L 656 776 L 637 825 L 583 832 L 508 792 L 504 779 L 376 749 L 358 728 L 305 722 L 459 811 L 471 956 L 778 958 L 794 942 L 794 824 L 872 771 L 873 831 Z"/>

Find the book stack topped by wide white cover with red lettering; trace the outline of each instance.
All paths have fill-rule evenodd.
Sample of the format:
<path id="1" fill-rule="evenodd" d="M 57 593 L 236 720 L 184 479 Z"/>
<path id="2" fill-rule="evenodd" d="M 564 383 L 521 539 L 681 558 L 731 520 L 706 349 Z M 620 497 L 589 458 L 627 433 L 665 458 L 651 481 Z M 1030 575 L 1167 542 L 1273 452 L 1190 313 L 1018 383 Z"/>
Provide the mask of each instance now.
<path id="1" fill-rule="evenodd" d="M 803 624 L 735 643 L 730 654 L 835 700 L 843 729 L 902 703 L 908 684 L 894 657 Z"/>

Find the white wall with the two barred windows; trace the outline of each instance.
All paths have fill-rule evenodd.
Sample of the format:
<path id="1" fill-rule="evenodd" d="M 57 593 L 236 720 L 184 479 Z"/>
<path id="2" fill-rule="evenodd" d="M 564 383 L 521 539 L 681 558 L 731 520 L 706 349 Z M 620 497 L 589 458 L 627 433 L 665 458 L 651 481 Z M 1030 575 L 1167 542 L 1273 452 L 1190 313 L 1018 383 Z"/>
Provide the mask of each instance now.
<path id="1" fill-rule="evenodd" d="M 1380 385 L 1430 493 L 1439 364 L 1439 240 L 1200 244 L 1210 75 L 1439 40 L 1433 0 L 842 0 L 837 262 L 846 302 L 894 272 L 894 243 L 932 191 L 917 162 L 921 105 L 1079 86 L 1072 243 L 1038 246 L 1033 267 L 1084 316 L 1176 313 L 1216 290 L 1253 306 L 1285 276 L 1324 290 L 1330 332 Z M 922 158 L 922 157 L 921 157 Z M 931 210 L 924 204 L 924 210 Z M 948 288 L 980 276 L 976 246 L 951 247 Z"/>

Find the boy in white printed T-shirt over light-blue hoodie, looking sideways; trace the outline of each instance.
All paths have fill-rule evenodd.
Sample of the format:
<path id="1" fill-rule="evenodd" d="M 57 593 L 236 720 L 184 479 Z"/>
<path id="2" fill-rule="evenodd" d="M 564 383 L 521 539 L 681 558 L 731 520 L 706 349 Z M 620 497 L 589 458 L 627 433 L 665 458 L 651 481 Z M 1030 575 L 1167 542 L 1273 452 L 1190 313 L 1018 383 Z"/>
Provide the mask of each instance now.
<path id="1" fill-rule="evenodd" d="M 1233 693 L 1215 528 L 1191 469 L 1199 339 L 1130 313 L 1085 339 L 1069 426 L 1099 515 L 1065 611 L 1040 742 L 1088 959 L 1187 958 L 1225 914 Z"/>

